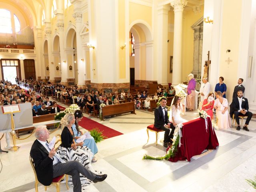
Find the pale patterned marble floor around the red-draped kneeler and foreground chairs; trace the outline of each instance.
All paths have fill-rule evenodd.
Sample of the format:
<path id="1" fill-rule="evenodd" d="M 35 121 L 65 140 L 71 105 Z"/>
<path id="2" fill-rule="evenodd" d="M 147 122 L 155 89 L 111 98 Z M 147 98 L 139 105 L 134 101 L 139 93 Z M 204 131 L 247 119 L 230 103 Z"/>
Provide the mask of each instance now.
<path id="1" fill-rule="evenodd" d="M 84 114 L 88 116 L 87 114 Z M 184 118 L 196 118 L 197 112 L 187 112 Z M 90 117 L 92 118 L 92 117 Z M 250 122 L 250 132 L 217 130 L 220 146 L 194 156 L 191 162 L 142 160 L 143 154 L 163 155 L 166 148 L 162 146 L 163 132 L 160 133 L 158 145 L 154 143 L 154 133 L 146 134 L 146 126 L 154 123 L 154 114 L 136 110 L 135 114 L 125 114 L 100 121 L 92 118 L 123 135 L 106 139 L 97 144 L 98 161 L 93 163 L 95 170 L 108 174 L 104 182 L 91 184 L 83 188 L 88 192 L 252 192 L 254 189 L 246 183 L 246 178 L 253 178 L 256 170 L 256 119 Z M 58 130 L 60 133 L 60 130 Z M 50 137 L 56 134 L 53 133 Z M 0 134 L 2 136 L 2 134 Z M 21 136 L 25 137 L 26 135 Z M 0 173 L 1 192 L 33 192 L 34 173 L 28 160 L 34 136 L 18 140 L 20 146 L 16 152 L 1 153 L 3 164 Z M 6 146 L 1 140 L 2 149 Z M 44 187 L 40 186 L 43 192 Z M 48 192 L 56 191 L 54 186 Z M 61 184 L 61 192 L 67 190 Z"/>

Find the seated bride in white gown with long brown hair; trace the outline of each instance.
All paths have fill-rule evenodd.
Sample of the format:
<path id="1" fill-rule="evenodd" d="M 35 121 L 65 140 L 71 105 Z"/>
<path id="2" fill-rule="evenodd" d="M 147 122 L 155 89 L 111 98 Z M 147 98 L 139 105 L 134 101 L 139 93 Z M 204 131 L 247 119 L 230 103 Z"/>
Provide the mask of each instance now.
<path id="1" fill-rule="evenodd" d="M 180 114 L 185 114 L 185 110 L 186 110 L 185 105 L 180 104 L 180 102 L 181 102 L 181 98 L 178 95 L 175 95 L 173 104 L 171 106 L 172 118 L 170 119 L 170 122 L 172 122 L 174 126 L 176 126 L 179 123 L 188 122 L 187 120 L 181 118 L 180 116 Z"/>

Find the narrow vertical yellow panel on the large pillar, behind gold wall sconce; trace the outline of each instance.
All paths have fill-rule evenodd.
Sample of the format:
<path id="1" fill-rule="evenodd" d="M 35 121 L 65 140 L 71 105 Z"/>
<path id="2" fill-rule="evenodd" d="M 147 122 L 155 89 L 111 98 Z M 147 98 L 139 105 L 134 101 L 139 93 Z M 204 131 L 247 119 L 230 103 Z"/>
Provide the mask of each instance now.
<path id="1" fill-rule="evenodd" d="M 118 1 L 118 26 L 119 26 L 119 43 L 120 47 L 124 46 L 125 42 L 125 0 Z M 125 50 L 118 48 L 119 50 L 119 78 L 126 78 L 126 59 Z"/>

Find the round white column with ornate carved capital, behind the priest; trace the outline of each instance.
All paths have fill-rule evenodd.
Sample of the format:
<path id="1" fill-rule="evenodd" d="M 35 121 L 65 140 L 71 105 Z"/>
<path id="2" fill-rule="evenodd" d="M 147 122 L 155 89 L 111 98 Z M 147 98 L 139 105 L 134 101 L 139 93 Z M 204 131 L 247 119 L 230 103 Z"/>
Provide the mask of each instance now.
<path id="1" fill-rule="evenodd" d="M 181 78 L 181 58 L 182 58 L 182 14 L 187 0 L 172 0 L 171 6 L 174 8 L 174 42 L 173 42 L 173 72 L 172 85 L 182 83 Z"/>

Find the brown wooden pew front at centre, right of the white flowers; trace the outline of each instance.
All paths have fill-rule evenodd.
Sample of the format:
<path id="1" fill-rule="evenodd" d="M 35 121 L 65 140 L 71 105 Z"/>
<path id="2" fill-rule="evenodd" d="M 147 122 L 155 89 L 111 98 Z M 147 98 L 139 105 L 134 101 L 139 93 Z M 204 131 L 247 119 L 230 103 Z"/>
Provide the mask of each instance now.
<path id="1" fill-rule="evenodd" d="M 108 105 L 102 108 L 102 117 L 123 114 L 123 113 L 135 113 L 134 102 L 121 103 L 116 105 Z"/>

